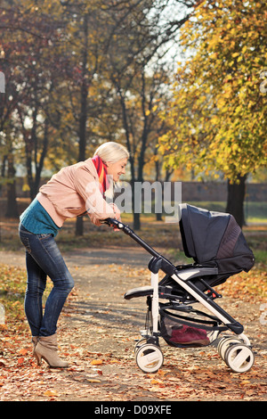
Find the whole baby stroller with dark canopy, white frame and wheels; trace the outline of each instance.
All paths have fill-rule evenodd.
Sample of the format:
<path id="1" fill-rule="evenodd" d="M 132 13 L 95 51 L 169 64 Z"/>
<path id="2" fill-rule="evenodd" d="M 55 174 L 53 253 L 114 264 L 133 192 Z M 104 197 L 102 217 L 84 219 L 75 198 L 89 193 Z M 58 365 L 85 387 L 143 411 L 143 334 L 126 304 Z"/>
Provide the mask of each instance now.
<path id="1" fill-rule="evenodd" d="M 147 316 L 142 339 L 135 345 L 137 366 L 156 373 L 164 357 L 159 337 L 170 346 L 196 348 L 216 344 L 233 372 L 245 373 L 254 364 L 250 341 L 243 326 L 214 301 L 222 295 L 214 286 L 241 271 L 248 272 L 255 258 L 235 218 L 188 204 L 179 205 L 179 225 L 185 255 L 194 263 L 174 266 L 123 223 L 105 222 L 128 234 L 152 255 L 150 286 L 134 288 L 125 299 L 147 297 Z M 158 272 L 166 275 L 158 282 Z M 193 308 L 201 305 L 201 310 Z M 205 311 L 203 311 L 205 310 Z M 207 311 L 207 312 L 206 312 Z M 227 332 L 227 333 L 226 333 Z M 221 334 L 220 339 L 218 336 Z"/>

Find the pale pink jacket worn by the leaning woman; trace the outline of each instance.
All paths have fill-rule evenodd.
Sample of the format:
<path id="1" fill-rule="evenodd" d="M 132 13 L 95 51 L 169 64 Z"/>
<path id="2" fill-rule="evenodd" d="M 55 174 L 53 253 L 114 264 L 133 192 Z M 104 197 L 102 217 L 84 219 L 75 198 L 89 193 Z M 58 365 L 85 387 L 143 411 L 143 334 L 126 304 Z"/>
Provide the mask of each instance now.
<path id="1" fill-rule="evenodd" d="M 115 218 L 117 208 L 102 198 L 92 159 L 61 168 L 41 186 L 36 198 L 59 227 L 66 218 L 77 217 L 85 211 L 93 223 L 99 225 L 100 219 Z"/>

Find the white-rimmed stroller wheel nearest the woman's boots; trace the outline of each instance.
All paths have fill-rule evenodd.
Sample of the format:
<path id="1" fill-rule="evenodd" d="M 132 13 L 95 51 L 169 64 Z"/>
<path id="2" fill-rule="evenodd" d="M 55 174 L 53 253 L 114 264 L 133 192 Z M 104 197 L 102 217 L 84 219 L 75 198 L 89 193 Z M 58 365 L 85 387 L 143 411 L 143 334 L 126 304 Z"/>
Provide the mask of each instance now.
<path id="1" fill-rule="evenodd" d="M 147 343 L 137 350 L 135 360 L 144 373 L 156 373 L 163 365 L 163 353 L 158 346 Z"/>

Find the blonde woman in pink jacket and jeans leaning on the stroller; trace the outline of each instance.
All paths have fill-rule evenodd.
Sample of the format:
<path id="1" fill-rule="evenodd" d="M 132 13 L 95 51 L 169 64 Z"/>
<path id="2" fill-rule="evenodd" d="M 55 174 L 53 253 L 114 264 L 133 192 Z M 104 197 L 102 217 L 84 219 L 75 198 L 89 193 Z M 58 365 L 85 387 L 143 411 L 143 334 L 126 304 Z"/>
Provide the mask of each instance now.
<path id="1" fill-rule="evenodd" d="M 26 248 L 28 273 L 25 313 L 38 365 L 44 358 L 49 366 L 69 366 L 57 353 L 56 330 L 74 281 L 54 237 L 67 218 L 85 212 L 96 226 L 101 225 L 101 219 L 120 219 L 116 205 L 108 204 L 105 195 L 112 190 L 113 182 L 125 173 L 128 157 L 124 146 L 112 142 L 102 144 L 93 159 L 61 168 L 53 175 L 20 216 L 20 240 Z M 47 275 L 53 281 L 53 290 L 43 313 L 42 296 Z"/>

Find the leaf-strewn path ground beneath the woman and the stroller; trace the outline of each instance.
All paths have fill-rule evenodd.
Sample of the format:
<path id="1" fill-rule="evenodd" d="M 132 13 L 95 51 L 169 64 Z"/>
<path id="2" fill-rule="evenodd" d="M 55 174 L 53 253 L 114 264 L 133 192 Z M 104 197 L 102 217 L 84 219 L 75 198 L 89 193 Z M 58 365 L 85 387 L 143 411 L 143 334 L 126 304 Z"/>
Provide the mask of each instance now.
<path id="1" fill-rule="evenodd" d="M 246 325 L 253 343 L 255 366 L 247 374 L 233 374 L 214 347 L 174 349 L 164 341 L 164 366 L 157 374 L 144 374 L 135 363 L 134 340 L 144 326 L 146 299 L 126 301 L 123 295 L 150 284 L 150 255 L 129 248 L 86 249 L 66 253 L 65 260 L 76 289 L 61 315 L 58 334 L 61 356 L 68 358 L 70 367 L 37 367 L 29 336 L 24 336 L 18 341 L 24 349 L 21 365 L 14 351 L 6 354 L 2 366 L 0 362 L 0 400 L 267 400 L 266 325 L 259 320 L 259 304 L 220 301 Z M 24 267 L 24 256 L 0 252 L 0 263 Z"/>

